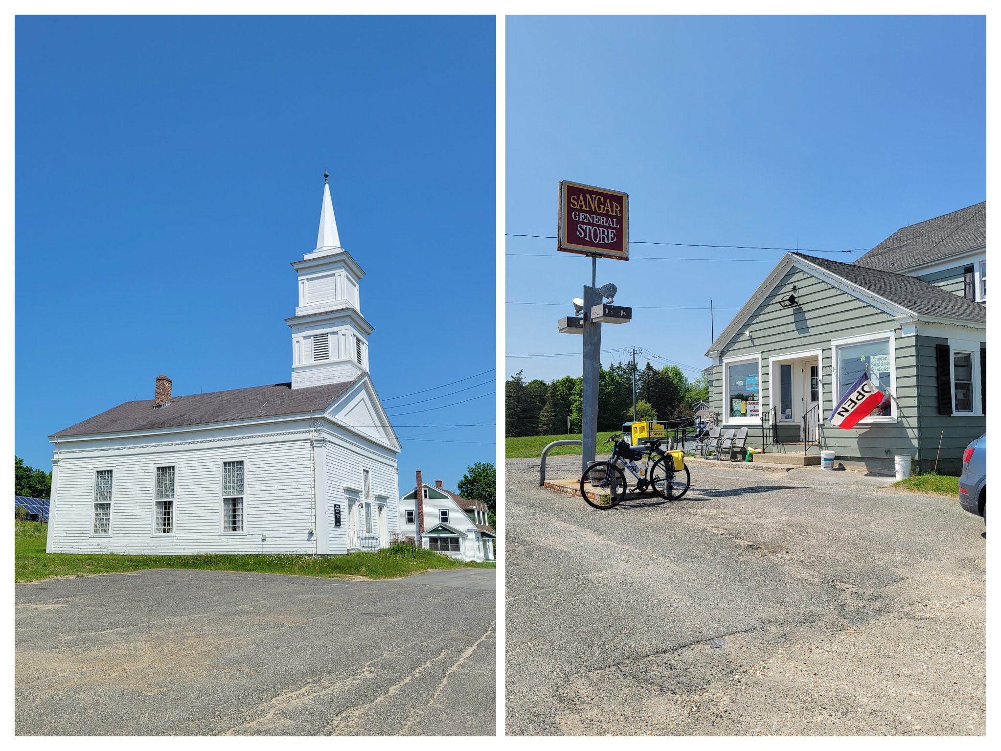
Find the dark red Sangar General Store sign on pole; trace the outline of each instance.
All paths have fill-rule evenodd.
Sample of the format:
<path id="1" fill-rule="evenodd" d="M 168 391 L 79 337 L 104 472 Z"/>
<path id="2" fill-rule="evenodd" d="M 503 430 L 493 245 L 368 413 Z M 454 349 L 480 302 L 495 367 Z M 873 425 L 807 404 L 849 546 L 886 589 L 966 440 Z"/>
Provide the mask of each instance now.
<path id="1" fill-rule="evenodd" d="M 629 260 L 629 194 L 560 183 L 558 250 Z"/>

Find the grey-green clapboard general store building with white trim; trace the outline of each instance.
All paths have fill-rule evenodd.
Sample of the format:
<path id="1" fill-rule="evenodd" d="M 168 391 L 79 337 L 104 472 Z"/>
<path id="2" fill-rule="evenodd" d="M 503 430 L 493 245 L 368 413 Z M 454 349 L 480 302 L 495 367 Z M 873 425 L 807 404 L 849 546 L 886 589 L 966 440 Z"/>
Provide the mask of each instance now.
<path id="1" fill-rule="evenodd" d="M 706 352 L 724 431 L 768 453 L 894 457 L 958 472 L 986 431 L 986 202 L 894 232 L 854 263 L 787 253 Z M 851 430 L 827 420 L 866 367 L 888 396 Z"/>

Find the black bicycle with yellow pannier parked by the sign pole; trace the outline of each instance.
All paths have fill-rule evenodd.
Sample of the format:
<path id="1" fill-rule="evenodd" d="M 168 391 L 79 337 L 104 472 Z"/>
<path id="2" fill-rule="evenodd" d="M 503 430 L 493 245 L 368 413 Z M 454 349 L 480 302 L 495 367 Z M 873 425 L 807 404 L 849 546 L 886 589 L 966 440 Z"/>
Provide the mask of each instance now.
<path id="1" fill-rule="evenodd" d="M 624 468 L 636 478 L 635 490 L 639 493 L 653 491 L 665 501 L 677 501 L 688 493 L 692 473 L 687 465 L 681 470 L 675 469 L 674 457 L 661 449 L 659 439 L 649 442 L 643 450 L 634 449 L 622 438 L 621 433 L 612 434 L 605 442 L 613 445 L 609 461 L 595 462 L 581 476 L 581 497 L 589 506 L 605 511 L 623 502 L 629 491 Z M 654 454 L 660 457 L 651 465 Z M 643 461 L 642 466 L 636 464 L 640 461 Z"/>

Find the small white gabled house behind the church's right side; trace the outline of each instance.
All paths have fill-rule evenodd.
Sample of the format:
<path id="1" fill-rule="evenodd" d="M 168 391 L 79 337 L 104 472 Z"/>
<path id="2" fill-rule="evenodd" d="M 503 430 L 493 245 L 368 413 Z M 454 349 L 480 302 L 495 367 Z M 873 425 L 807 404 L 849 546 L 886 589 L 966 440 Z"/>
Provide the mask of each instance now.
<path id="1" fill-rule="evenodd" d="M 445 490 L 440 480 L 424 483 L 420 470 L 416 481 L 400 499 L 399 536 L 459 561 L 493 561 L 496 533 L 489 526 L 486 504 Z"/>

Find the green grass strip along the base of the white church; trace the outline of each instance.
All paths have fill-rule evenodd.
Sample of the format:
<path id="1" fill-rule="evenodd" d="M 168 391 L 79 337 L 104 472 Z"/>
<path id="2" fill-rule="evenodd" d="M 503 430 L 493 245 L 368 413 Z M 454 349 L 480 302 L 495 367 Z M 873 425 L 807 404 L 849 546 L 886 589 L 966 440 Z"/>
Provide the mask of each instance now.
<path id="1" fill-rule="evenodd" d="M 37 582 L 59 576 L 113 574 L 141 569 L 210 569 L 296 574 L 312 577 L 392 579 L 422 574 L 428 569 L 494 568 L 495 563 L 463 563 L 429 550 L 404 546 L 378 553 L 348 556 L 186 555 L 123 556 L 116 554 L 46 553 L 48 525 L 14 521 L 14 581 Z"/>

